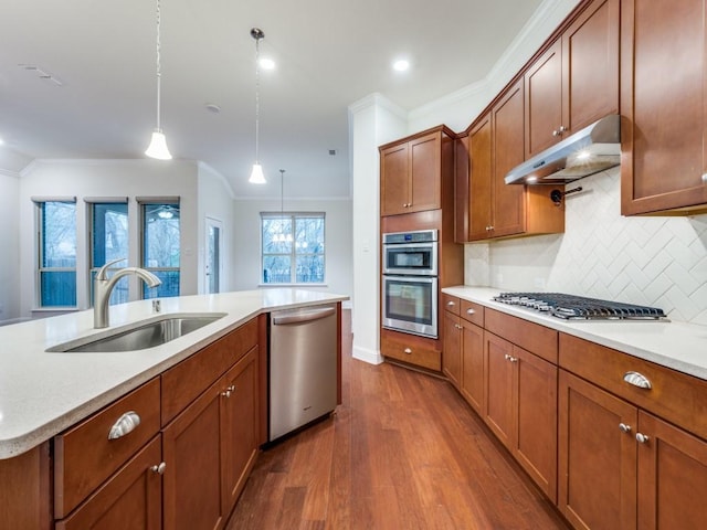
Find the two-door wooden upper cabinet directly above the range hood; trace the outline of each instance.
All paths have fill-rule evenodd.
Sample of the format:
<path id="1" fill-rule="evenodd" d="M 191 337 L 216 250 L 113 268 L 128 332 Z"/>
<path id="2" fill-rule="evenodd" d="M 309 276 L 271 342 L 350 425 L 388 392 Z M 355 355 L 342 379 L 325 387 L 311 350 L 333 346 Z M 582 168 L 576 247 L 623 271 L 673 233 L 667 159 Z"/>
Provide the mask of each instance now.
<path id="1" fill-rule="evenodd" d="M 595 0 L 526 71 L 525 157 L 619 109 L 619 0 Z"/>

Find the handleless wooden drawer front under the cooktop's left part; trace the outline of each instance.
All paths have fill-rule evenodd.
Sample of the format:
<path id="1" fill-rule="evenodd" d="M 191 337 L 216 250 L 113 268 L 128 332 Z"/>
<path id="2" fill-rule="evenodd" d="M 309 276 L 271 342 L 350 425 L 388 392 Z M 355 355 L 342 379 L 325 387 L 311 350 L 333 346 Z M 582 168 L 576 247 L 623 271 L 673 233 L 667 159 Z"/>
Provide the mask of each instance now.
<path id="1" fill-rule="evenodd" d="M 558 332 L 553 329 L 488 308 L 484 310 L 484 328 L 557 364 Z"/>

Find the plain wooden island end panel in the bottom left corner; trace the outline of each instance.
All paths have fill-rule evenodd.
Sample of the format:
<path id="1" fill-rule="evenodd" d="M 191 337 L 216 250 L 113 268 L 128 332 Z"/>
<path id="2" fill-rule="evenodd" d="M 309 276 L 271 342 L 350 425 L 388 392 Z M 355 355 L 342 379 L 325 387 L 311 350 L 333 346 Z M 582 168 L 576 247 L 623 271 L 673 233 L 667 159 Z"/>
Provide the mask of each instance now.
<path id="1" fill-rule="evenodd" d="M 17 530 L 54 528 L 51 475 L 49 442 L 0 459 L 0 523 Z"/>

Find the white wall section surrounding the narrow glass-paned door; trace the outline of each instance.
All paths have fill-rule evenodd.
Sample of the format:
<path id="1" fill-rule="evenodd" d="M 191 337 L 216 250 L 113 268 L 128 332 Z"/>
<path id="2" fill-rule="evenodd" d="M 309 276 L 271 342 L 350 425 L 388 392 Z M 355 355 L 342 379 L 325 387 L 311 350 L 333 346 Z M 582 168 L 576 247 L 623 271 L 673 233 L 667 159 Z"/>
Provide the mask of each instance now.
<path id="1" fill-rule="evenodd" d="M 197 278 L 198 293 L 203 294 L 205 289 L 205 252 L 207 252 L 207 218 L 219 221 L 222 225 L 221 232 L 221 265 L 222 274 L 220 276 L 220 292 L 231 290 L 233 284 L 233 267 L 231 264 L 234 258 L 234 213 L 233 213 L 233 192 L 231 186 L 225 181 L 223 176 L 211 169 L 204 163 L 199 163 L 199 213 L 198 213 L 198 248 L 197 263 L 199 277 Z"/>

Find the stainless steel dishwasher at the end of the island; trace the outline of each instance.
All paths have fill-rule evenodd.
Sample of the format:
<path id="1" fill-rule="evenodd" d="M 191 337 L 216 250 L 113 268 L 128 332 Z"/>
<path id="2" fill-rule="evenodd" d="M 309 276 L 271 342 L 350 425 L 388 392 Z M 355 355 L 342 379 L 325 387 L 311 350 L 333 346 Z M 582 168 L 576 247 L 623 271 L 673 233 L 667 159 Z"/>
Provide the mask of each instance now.
<path id="1" fill-rule="evenodd" d="M 329 414 L 337 405 L 337 306 L 271 314 L 272 442 Z"/>

